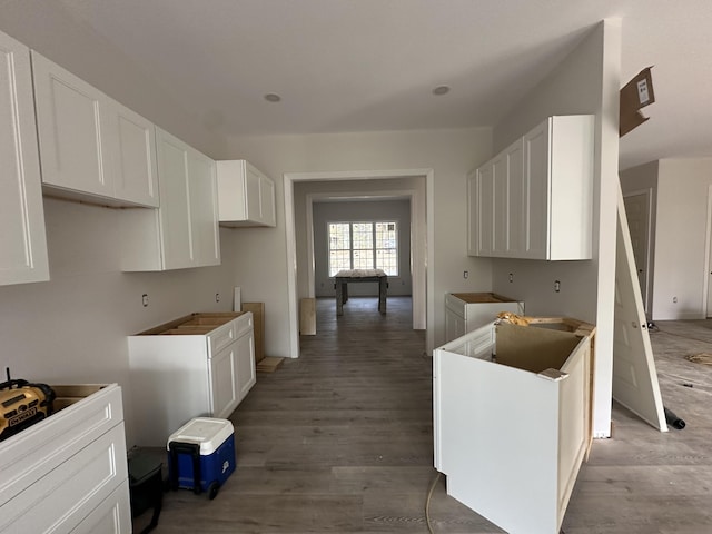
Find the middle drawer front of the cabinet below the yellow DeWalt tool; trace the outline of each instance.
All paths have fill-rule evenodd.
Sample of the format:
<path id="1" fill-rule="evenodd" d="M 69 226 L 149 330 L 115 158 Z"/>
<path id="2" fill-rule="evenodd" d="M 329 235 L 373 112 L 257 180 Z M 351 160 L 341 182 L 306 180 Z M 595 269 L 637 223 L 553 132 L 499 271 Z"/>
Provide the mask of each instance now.
<path id="1" fill-rule="evenodd" d="M 71 532 L 126 483 L 125 458 L 123 424 L 119 424 L 0 506 L 0 533 Z"/>

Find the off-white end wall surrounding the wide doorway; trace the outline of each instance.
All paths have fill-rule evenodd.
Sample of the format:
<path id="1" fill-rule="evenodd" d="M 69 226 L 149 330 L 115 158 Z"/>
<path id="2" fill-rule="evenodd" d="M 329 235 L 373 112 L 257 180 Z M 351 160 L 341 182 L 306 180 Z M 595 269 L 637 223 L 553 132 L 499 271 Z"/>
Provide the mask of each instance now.
<path id="1" fill-rule="evenodd" d="M 490 290 L 490 260 L 467 256 L 466 185 L 468 170 L 492 152 L 491 130 L 453 129 L 365 134 L 233 138 L 230 157 L 250 160 L 276 181 L 277 227 L 236 231 L 244 286 L 265 303 L 266 344 L 270 356 L 295 356 L 289 345 L 289 304 L 284 206 L 284 174 L 433 169 L 434 320 L 427 328 L 435 346 L 444 339 L 444 295 Z M 259 250 L 259 255 L 250 254 Z M 469 278 L 463 279 L 463 271 Z M 294 310 L 293 310 L 294 312 Z M 269 334 L 271 332 L 273 334 Z"/>

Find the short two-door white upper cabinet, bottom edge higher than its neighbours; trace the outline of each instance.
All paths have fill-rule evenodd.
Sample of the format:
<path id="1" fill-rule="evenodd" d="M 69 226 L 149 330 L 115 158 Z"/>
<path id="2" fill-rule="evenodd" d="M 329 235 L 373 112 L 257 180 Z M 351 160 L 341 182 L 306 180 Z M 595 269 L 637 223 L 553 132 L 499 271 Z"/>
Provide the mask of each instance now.
<path id="1" fill-rule="evenodd" d="M 56 195 L 157 207 L 154 125 L 32 51 L 42 182 Z"/>

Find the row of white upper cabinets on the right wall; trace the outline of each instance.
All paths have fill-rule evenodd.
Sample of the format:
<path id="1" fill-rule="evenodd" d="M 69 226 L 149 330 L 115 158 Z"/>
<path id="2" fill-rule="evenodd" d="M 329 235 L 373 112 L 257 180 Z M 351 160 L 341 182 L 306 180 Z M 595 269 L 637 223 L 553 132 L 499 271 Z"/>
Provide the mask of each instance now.
<path id="1" fill-rule="evenodd" d="M 468 178 L 468 254 L 591 259 L 593 116 L 550 117 Z"/>

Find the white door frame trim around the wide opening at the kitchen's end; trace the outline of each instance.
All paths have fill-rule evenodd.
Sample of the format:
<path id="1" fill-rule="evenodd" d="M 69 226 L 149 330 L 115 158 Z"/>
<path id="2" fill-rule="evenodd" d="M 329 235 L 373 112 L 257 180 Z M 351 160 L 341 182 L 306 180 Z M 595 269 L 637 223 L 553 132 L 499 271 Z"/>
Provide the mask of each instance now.
<path id="1" fill-rule="evenodd" d="M 367 170 L 367 171 L 318 171 L 318 172 L 285 172 L 285 237 L 287 257 L 287 297 L 289 314 L 289 346 L 293 357 L 299 356 L 299 310 L 297 303 L 297 249 L 296 249 L 296 221 L 294 207 L 295 181 L 330 181 L 330 180 L 373 180 L 425 177 L 425 199 L 412 199 L 411 233 L 413 238 L 413 308 L 414 327 L 425 328 L 425 345 L 428 354 L 434 347 L 433 325 L 435 324 L 435 295 L 433 269 L 426 266 L 434 265 L 433 253 L 435 230 L 434 219 L 434 178 L 433 169 L 397 169 L 397 170 Z M 424 206 L 424 208 L 421 208 Z M 424 214 L 422 212 L 424 209 Z M 416 288 L 424 288 L 423 295 L 416 296 Z M 417 313 L 416 313 L 417 310 Z M 418 317 L 416 322 L 415 318 Z M 423 323 L 424 320 L 424 323 Z"/>

